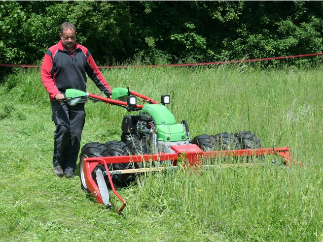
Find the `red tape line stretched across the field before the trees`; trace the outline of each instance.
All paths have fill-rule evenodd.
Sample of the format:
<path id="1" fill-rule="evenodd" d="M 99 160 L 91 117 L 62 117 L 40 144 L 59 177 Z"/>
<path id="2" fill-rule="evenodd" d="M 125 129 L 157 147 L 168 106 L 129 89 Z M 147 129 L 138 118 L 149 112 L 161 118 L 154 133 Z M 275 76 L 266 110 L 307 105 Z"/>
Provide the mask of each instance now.
<path id="1" fill-rule="evenodd" d="M 318 56 L 323 55 L 323 53 L 315 54 L 306 54 L 306 55 L 297 55 L 297 56 L 284 56 L 284 57 L 273 57 L 273 58 L 262 58 L 262 59 L 252 59 L 252 60 L 230 60 L 230 61 L 217 61 L 217 62 L 203 62 L 203 63 L 187 63 L 187 64 L 165 64 L 165 65 L 100 65 L 99 68 L 128 68 L 128 67 L 169 67 L 169 66 L 194 66 L 194 65 L 216 65 L 216 64 L 229 64 L 229 63 L 240 63 L 240 62 L 254 62 L 261 60 L 280 60 L 280 59 L 289 59 L 289 58 L 299 58 L 299 57 L 308 57 L 308 56 Z M 14 67 L 36 67 L 40 68 L 41 65 L 27 65 L 27 64 L 4 64 L 0 63 L 0 66 L 14 66 Z"/>

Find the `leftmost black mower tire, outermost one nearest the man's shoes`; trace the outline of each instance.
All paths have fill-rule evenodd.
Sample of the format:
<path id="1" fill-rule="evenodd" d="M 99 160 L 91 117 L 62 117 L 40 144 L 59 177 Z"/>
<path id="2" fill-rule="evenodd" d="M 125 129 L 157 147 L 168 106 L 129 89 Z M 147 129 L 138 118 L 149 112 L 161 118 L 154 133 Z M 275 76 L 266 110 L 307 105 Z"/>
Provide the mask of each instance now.
<path id="1" fill-rule="evenodd" d="M 104 157 L 104 156 L 109 156 L 108 149 L 104 146 L 104 144 L 101 144 L 99 142 L 92 142 L 92 143 L 87 143 L 82 147 L 81 153 L 79 155 L 79 177 L 81 180 L 81 187 L 84 191 L 89 192 L 89 189 L 87 188 L 85 183 L 82 158 L 83 157 Z M 98 167 L 103 169 L 104 165 L 99 165 Z M 110 168 L 111 168 L 111 165 L 110 167 L 108 167 L 108 169 Z M 98 168 L 95 168 L 94 170 L 96 171 L 97 169 Z M 94 181 L 96 181 L 95 171 L 92 172 L 92 177 Z"/>

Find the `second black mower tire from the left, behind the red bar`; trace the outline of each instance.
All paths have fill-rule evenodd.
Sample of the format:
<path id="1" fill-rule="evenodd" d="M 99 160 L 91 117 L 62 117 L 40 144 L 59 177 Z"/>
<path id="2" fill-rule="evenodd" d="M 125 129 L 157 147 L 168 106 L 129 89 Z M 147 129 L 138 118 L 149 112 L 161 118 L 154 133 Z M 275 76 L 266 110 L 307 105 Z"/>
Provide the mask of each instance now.
<path id="1" fill-rule="evenodd" d="M 108 149 L 110 156 L 129 155 L 128 147 L 122 141 L 114 141 L 114 140 L 108 141 L 104 146 Z M 139 168 L 139 165 L 137 162 L 115 163 L 115 164 L 112 164 L 111 170 L 127 170 L 127 169 L 136 169 L 136 168 Z M 136 178 L 135 174 L 133 173 L 119 174 L 119 175 L 113 175 L 112 181 L 114 186 L 116 187 L 126 187 L 132 181 L 135 181 L 135 178 Z"/>

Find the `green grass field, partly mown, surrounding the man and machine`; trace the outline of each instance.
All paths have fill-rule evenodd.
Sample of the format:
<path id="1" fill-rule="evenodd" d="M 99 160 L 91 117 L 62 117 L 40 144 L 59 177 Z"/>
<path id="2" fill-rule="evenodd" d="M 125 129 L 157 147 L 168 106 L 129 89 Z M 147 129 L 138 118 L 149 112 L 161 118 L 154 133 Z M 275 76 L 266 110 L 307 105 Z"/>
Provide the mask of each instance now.
<path id="1" fill-rule="evenodd" d="M 103 70 L 185 119 L 191 137 L 250 130 L 264 148 L 285 147 L 298 164 L 160 172 L 111 196 L 113 210 L 52 173 L 54 123 L 39 69 L 0 88 L 0 241 L 323 241 L 323 68 L 249 66 Z M 88 81 L 88 91 L 99 90 Z M 81 146 L 119 140 L 127 112 L 86 104 Z M 76 174 L 78 171 L 76 170 Z"/>

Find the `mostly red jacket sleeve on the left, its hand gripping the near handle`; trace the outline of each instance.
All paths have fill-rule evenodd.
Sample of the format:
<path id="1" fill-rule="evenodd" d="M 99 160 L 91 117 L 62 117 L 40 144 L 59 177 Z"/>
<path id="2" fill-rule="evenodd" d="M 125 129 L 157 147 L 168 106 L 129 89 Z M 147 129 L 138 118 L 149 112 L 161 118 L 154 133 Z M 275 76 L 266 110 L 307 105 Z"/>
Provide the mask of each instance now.
<path id="1" fill-rule="evenodd" d="M 52 53 L 50 50 L 47 50 L 44 60 L 42 61 L 41 65 L 41 80 L 42 83 L 49 93 L 49 99 L 52 101 L 55 99 L 55 96 L 60 93 L 56 87 L 55 79 L 54 79 L 54 72 L 53 72 L 53 59 Z"/>

